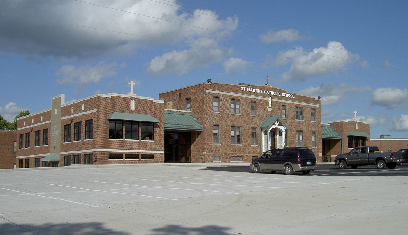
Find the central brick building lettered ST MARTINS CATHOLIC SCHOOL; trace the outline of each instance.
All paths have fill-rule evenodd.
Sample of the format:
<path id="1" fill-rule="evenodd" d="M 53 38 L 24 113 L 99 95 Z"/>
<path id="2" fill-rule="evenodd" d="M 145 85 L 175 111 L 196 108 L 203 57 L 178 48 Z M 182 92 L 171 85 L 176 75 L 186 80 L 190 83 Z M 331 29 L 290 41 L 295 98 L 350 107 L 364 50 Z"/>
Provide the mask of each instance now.
<path id="1" fill-rule="evenodd" d="M 159 100 L 166 110 L 186 110 L 202 124 L 203 131 L 191 142 L 192 162 L 250 162 L 268 149 L 285 146 L 308 147 L 322 162 L 317 98 L 269 84 L 208 81 L 160 93 Z"/>

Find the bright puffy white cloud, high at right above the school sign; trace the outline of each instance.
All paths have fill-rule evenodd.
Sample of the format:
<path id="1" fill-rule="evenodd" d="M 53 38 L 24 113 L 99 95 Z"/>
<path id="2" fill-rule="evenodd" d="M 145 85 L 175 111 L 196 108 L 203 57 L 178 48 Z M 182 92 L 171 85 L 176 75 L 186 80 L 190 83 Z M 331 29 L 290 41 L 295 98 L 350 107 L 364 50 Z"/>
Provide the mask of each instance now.
<path id="1" fill-rule="evenodd" d="M 282 81 L 304 81 L 309 77 L 328 75 L 345 70 L 346 66 L 358 58 L 343 47 L 341 42 L 329 42 L 327 47 L 313 49 L 312 52 L 302 48 L 281 51 L 275 58 L 276 65 L 292 63 L 289 71 L 281 75 Z"/>

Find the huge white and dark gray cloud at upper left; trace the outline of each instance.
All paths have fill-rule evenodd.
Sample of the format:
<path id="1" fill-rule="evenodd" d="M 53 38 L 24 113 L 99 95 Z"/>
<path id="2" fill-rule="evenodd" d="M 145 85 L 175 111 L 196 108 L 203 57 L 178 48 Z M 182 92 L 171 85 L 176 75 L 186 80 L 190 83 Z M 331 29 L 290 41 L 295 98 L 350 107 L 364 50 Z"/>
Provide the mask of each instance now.
<path id="1" fill-rule="evenodd" d="M 218 41 L 238 25 L 238 18 L 220 19 L 213 11 L 186 13 L 176 0 L 91 2 L 2 2 L 8 15 L 0 21 L 0 50 L 80 59 L 131 55 L 150 45 Z"/>

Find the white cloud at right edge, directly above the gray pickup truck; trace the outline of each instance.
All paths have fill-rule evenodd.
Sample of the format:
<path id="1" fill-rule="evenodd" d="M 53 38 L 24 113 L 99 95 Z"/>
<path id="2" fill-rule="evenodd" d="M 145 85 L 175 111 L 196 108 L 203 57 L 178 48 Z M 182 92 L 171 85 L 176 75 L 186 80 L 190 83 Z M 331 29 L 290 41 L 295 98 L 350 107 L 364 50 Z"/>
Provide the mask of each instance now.
<path id="1" fill-rule="evenodd" d="M 373 91 L 371 104 L 385 106 L 387 109 L 408 108 L 408 89 L 377 88 Z"/>

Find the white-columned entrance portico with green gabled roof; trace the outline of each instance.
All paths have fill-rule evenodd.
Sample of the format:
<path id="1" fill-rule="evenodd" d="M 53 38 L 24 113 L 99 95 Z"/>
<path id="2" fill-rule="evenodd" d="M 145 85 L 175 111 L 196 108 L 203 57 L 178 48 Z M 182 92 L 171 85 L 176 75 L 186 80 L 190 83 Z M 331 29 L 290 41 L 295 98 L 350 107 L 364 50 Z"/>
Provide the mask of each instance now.
<path id="1" fill-rule="evenodd" d="M 262 152 L 269 149 L 283 148 L 286 146 L 285 122 L 278 115 L 269 115 L 261 123 Z"/>

